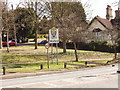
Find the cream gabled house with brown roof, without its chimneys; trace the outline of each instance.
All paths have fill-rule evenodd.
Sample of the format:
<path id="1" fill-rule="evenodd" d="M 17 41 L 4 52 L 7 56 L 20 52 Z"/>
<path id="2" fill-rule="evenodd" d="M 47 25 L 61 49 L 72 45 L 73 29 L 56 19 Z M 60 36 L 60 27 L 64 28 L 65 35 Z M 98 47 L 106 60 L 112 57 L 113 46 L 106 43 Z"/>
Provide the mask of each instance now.
<path id="1" fill-rule="evenodd" d="M 108 19 L 96 16 L 88 25 L 88 31 L 92 33 L 95 40 L 109 40 L 109 36 L 104 32 L 112 30 L 112 23 Z"/>

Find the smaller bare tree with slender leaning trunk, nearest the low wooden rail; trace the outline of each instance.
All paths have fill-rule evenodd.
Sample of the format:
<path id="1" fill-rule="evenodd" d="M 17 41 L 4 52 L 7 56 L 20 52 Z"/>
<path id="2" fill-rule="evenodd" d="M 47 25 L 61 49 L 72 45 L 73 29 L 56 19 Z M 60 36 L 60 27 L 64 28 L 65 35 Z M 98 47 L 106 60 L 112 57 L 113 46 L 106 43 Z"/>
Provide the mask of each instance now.
<path id="1" fill-rule="evenodd" d="M 68 17 L 67 24 L 69 25 L 69 39 L 73 41 L 76 61 L 78 61 L 78 53 L 76 43 L 83 41 L 85 38 L 84 31 L 86 29 L 86 21 L 84 19 L 84 13 L 78 16 L 77 13 L 73 13 Z"/>

